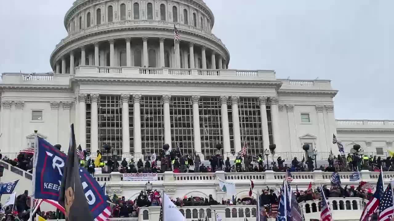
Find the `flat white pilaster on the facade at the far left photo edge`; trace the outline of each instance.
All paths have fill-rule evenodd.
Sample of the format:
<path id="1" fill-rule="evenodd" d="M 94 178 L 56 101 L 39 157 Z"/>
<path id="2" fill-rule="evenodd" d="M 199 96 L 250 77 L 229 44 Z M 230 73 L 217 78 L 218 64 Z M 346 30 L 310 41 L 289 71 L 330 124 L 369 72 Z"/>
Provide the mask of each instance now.
<path id="1" fill-rule="evenodd" d="M 1 125 L 2 125 L 2 140 L 3 140 L 3 146 L 2 146 L 2 152 L 3 153 L 12 153 L 15 152 L 14 149 L 11 149 L 13 147 L 10 147 L 11 144 L 11 106 L 12 106 L 12 101 L 1 101 L 3 109 L 1 111 Z M 29 119 L 32 120 L 32 119 Z"/>

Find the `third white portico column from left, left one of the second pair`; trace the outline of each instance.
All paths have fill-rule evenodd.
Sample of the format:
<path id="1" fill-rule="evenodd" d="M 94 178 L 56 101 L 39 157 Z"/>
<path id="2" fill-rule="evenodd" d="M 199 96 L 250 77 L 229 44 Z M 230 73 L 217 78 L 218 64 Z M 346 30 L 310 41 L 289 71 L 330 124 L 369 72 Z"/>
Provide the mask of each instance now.
<path id="1" fill-rule="evenodd" d="M 130 153 L 130 124 L 128 120 L 128 101 L 130 94 L 122 94 L 122 137 L 123 153 Z"/>

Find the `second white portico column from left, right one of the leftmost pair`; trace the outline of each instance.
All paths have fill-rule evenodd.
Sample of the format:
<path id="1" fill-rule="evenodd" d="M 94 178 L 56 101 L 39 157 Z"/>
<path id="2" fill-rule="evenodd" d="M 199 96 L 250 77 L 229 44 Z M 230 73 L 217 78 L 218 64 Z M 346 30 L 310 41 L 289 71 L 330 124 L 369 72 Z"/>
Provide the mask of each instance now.
<path id="1" fill-rule="evenodd" d="M 99 147 L 99 107 L 97 101 L 99 100 L 99 94 L 91 94 L 91 122 L 90 122 L 90 153 L 96 153 Z"/>

